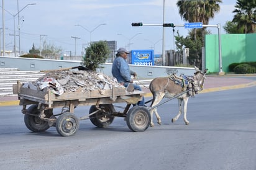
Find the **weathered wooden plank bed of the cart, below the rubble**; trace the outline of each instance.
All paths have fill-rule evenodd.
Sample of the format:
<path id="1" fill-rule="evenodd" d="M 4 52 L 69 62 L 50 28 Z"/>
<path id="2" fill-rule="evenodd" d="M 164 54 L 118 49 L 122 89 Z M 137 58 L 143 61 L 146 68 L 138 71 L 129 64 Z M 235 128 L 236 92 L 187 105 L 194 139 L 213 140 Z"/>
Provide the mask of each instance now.
<path id="1" fill-rule="evenodd" d="M 104 91 L 64 92 L 62 95 L 58 96 L 53 94 L 50 90 L 37 91 L 27 87 L 22 87 L 22 84 L 19 83 L 19 81 L 17 84 L 13 85 L 13 91 L 14 94 L 18 94 L 20 100 L 19 105 L 40 103 L 48 105 L 49 108 L 54 107 L 53 104 L 55 103 L 66 101 L 76 101 L 77 105 L 111 104 L 116 102 L 129 103 L 132 99 L 139 101 L 145 93 L 144 91 L 128 92 L 125 88 L 113 87 L 112 89 Z"/>

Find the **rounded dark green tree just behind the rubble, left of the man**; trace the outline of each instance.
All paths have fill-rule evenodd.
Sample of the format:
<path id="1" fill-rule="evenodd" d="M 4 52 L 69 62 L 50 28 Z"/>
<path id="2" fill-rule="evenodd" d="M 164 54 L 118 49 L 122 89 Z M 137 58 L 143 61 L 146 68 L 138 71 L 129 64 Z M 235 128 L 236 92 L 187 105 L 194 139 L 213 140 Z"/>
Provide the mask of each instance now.
<path id="1" fill-rule="evenodd" d="M 83 57 L 83 65 L 88 69 L 96 71 L 97 68 L 102 68 L 99 65 L 106 62 L 109 54 L 110 50 L 106 41 L 90 43 Z"/>

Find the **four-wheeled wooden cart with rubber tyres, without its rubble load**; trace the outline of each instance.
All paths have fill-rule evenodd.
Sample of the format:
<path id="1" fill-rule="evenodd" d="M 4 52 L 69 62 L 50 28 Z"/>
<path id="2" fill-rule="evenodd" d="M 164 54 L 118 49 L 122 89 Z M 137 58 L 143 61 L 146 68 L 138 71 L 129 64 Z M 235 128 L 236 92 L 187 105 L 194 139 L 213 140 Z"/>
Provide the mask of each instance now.
<path id="1" fill-rule="evenodd" d="M 14 94 L 18 94 L 19 105 L 27 128 L 32 132 L 44 132 L 56 127 L 61 136 L 74 135 L 79 128 L 79 120 L 89 119 L 96 127 L 108 127 L 114 117 L 125 117 L 127 126 L 133 132 L 144 132 L 150 125 L 150 112 L 147 107 L 130 105 L 140 101 L 145 92 L 128 92 L 124 88 L 113 87 L 103 91 L 64 92 L 58 96 L 50 90 L 37 91 L 22 87 L 19 81 L 13 85 Z M 116 112 L 114 103 L 126 102 L 123 112 Z M 27 105 L 30 105 L 27 109 Z M 89 115 L 78 119 L 74 114 L 79 105 L 91 105 Z M 53 109 L 62 108 L 59 114 Z"/>

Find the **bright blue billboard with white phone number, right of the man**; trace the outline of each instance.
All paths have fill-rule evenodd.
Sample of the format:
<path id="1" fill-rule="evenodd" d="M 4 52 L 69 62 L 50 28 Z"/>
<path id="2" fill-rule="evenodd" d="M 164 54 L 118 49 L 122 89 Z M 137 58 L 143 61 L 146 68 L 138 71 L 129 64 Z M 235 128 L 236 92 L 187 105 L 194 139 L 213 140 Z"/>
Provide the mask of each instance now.
<path id="1" fill-rule="evenodd" d="M 153 66 L 153 50 L 132 50 L 132 65 Z"/>

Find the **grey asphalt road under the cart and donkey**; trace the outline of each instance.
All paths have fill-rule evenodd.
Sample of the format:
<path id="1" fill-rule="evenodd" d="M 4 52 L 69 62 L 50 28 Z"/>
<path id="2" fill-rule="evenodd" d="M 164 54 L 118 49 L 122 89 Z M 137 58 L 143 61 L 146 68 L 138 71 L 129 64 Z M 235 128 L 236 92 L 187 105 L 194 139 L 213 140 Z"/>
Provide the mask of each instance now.
<path id="1" fill-rule="evenodd" d="M 123 118 L 108 128 L 80 122 L 74 136 L 55 127 L 32 133 L 22 107 L 1 107 L 0 169 L 256 169 L 256 87 L 198 94 L 188 101 L 188 120 L 170 120 L 176 99 L 158 107 L 162 125 L 131 132 Z M 146 101 L 150 98 L 146 98 Z M 78 117 L 89 107 L 77 107 Z M 58 110 L 56 110 L 58 112 Z"/>

